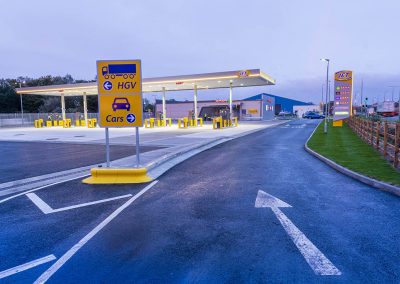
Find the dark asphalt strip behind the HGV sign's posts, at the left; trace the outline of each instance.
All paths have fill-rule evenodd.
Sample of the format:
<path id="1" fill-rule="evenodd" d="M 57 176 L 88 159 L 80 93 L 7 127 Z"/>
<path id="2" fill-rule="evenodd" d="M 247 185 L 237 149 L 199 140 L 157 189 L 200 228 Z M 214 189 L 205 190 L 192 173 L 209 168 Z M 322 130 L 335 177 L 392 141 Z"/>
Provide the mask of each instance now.
<path id="1" fill-rule="evenodd" d="M 147 152 L 157 147 L 140 147 Z M 135 155 L 134 146 L 110 146 L 110 159 Z M 105 162 L 104 145 L 0 142 L 0 183 Z"/>

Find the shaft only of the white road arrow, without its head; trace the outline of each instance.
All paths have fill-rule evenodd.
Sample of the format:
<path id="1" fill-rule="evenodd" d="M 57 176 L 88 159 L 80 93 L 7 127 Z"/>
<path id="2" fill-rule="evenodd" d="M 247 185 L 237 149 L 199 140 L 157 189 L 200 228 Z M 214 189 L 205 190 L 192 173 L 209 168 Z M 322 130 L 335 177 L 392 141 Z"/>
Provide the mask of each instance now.
<path id="1" fill-rule="evenodd" d="M 271 207 L 308 265 L 317 275 L 341 275 L 339 269 L 286 217 L 278 207 Z"/>

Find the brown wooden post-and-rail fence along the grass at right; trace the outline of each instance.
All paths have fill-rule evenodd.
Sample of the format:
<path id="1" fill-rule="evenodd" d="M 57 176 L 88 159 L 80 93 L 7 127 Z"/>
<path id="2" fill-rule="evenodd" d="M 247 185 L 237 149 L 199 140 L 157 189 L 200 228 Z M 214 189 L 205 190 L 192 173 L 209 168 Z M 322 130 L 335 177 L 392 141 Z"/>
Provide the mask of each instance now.
<path id="1" fill-rule="evenodd" d="M 400 123 L 349 119 L 349 126 L 365 142 L 377 149 L 395 168 L 399 167 Z"/>

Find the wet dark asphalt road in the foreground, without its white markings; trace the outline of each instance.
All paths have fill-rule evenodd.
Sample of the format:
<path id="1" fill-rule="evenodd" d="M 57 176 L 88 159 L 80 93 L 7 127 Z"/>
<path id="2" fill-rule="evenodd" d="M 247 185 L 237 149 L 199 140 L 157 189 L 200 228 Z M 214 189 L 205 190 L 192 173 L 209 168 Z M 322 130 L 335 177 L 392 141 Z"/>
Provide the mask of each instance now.
<path id="1" fill-rule="evenodd" d="M 400 199 L 309 156 L 316 123 L 266 129 L 176 166 L 49 283 L 399 283 Z M 143 187 L 71 181 L 37 195 L 60 208 Z M 292 206 L 281 210 L 341 275 L 314 273 L 271 209 L 254 207 L 259 190 Z M 0 204 L 0 271 L 59 259 L 125 201 L 48 215 L 25 196 Z M 2 280 L 32 282 L 52 264 Z"/>

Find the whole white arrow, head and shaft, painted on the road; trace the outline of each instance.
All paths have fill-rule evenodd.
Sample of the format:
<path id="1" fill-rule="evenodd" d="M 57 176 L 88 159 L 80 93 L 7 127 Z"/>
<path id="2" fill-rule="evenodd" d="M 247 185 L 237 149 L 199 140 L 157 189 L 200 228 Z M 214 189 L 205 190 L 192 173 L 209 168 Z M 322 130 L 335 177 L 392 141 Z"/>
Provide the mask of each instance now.
<path id="1" fill-rule="evenodd" d="M 283 214 L 279 207 L 292 207 L 262 190 L 258 191 L 256 208 L 269 207 L 317 275 L 341 275 L 339 269 Z"/>

